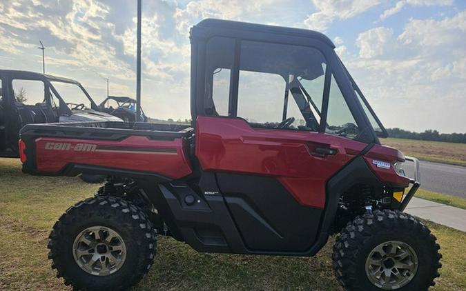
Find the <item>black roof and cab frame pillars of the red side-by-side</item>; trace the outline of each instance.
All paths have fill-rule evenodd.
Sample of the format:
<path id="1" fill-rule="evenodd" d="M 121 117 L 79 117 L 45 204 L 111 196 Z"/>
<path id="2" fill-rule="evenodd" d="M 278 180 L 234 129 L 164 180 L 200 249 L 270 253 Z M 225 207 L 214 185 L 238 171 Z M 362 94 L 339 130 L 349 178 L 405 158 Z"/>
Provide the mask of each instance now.
<path id="1" fill-rule="evenodd" d="M 387 132 L 382 126 L 382 123 L 380 123 L 380 120 L 369 106 L 364 95 L 360 92 L 356 82 L 354 82 L 351 75 L 347 69 L 344 68 L 340 59 L 336 55 L 336 52 L 334 51 L 335 46 L 330 39 L 324 36 L 324 34 L 295 28 L 262 26 L 235 21 L 218 21 L 216 19 L 206 19 L 191 29 L 191 117 L 193 121 L 196 120 L 197 116 L 212 115 L 212 108 L 209 108 L 212 106 L 208 101 L 208 90 L 211 90 L 212 80 L 211 78 L 209 79 L 208 74 L 206 74 L 206 72 L 210 70 L 210 68 L 207 68 L 206 63 L 207 61 L 211 61 L 212 54 L 211 51 L 210 54 L 207 54 L 206 50 L 208 41 L 213 39 L 213 37 L 232 39 L 232 43 L 234 43 L 232 45 L 233 48 L 228 48 L 234 52 L 229 88 L 229 117 L 240 118 L 237 116 L 239 74 L 240 70 L 247 70 L 247 68 L 244 68 L 246 65 L 240 62 L 242 43 L 255 41 L 263 43 L 264 47 L 269 44 L 300 46 L 318 50 L 322 53 L 327 64 L 324 72 L 322 110 L 320 110 L 313 102 L 311 95 L 307 92 L 304 86 L 302 86 L 298 77 L 289 81 L 286 77 L 282 76 L 285 81 L 287 81 L 287 88 L 293 89 L 289 90 L 293 99 L 295 99 L 297 103 L 307 103 L 307 106 L 304 107 L 305 110 L 301 110 L 304 120 L 306 121 L 306 126 L 313 126 L 309 121 L 312 119 L 318 119 L 320 121 L 318 131 L 326 132 L 326 129 L 328 129 L 327 111 L 329 108 L 331 76 L 333 76 L 338 84 L 338 88 L 342 92 L 344 101 L 346 101 L 347 106 L 359 128 L 359 134 L 356 137 L 356 140 L 365 143 L 380 143 L 378 137 L 387 137 Z M 206 58 L 207 55 L 209 55 L 208 59 Z M 260 55 L 258 55 L 258 57 L 260 57 Z M 219 63 L 217 68 L 222 68 L 222 64 Z M 356 92 L 360 95 L 363 104 L 358 100 Z M 284 95 L 282 114 L 283 121 L 287 119 L 288 99 L 289 94 L 286 93 Z M 367 107 L 367 111 L 370 112 L 376 120 L 381 132 L 376 132 L 374 130 L 363 106 Z M 315 116 L 316 114 L 319 116 Z"/>

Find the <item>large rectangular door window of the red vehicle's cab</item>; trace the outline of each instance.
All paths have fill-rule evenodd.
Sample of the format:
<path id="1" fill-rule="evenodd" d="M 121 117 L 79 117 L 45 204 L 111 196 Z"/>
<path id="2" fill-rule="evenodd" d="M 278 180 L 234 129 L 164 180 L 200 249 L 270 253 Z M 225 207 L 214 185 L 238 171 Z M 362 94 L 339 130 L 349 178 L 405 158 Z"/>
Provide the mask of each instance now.
<path id="1" fill-rule="evenodd" d="M 253 127 L 318 131 L 325 63 L 315 48 L 242 41 L 237 117 Z"/>

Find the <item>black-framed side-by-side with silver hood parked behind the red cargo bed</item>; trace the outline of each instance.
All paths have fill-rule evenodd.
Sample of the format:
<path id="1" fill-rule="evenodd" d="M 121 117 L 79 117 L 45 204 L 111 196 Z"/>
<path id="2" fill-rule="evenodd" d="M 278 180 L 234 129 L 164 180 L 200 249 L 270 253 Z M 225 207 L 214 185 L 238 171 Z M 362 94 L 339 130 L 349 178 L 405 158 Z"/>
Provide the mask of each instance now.
<path id="1" fill-rule="evenodd" d="M 74 103 L 69 103 L 74 102 Z M 75 80 L 19 70 L 0 70 L 0 157 L 19 157 L 19 130 L 29 123 L 122 121 L 99 112 Z M 84 174 L 91 183 L 103 181 Z"/>

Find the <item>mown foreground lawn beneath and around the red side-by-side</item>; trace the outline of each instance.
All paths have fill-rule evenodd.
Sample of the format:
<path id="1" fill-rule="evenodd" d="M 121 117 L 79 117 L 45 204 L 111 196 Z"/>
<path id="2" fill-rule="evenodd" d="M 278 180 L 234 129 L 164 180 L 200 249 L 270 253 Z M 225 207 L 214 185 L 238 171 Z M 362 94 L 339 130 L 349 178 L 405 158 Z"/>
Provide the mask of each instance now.
<path id="1" fill-rule="evenodd" d="M 28 176 L 16 159 L 0 159 L 0 185 L 0 290 L 70 290 L 50 269 L 48 233 L 66 208 L 97 186 Z M 466 233 L 426 223 L 443 253 L 433 290 L 465 290 Z M 201 254 L 159 237 L 155 263 L 135 290 L 342 290 L 331 267 L 333 239 L 315 257 L 293 258 Z"/>

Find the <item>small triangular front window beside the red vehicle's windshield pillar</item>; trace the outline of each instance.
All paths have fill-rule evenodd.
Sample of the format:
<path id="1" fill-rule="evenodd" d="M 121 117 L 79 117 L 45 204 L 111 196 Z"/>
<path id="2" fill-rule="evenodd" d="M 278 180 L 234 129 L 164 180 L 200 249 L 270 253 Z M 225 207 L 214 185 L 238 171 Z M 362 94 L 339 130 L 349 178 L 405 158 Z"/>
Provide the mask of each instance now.
<path id="1" fill-rule="evenodd" d="M 359 134 L 356 121 L 349 111 L 347 102 L 344 100 L 343 94 L 338 88 L 335 78 L 331 77 L 329 108 L 327 111 L 327 128 L 326 132 L 338 134 L 342 137 L 350 139 L 356 138 Z"/>

